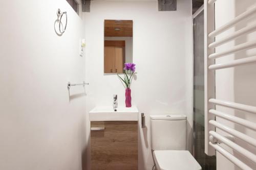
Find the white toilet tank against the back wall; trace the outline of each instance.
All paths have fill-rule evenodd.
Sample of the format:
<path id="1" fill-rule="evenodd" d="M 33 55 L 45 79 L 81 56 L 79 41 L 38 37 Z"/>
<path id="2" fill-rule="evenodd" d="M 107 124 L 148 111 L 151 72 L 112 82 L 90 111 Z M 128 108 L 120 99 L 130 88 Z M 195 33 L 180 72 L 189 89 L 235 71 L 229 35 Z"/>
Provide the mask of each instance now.
<path id="1" fill-rule="evenodd" d="M 151 147 L 156 150 L 186 150 L 186 115 L 151 115 Z"/>

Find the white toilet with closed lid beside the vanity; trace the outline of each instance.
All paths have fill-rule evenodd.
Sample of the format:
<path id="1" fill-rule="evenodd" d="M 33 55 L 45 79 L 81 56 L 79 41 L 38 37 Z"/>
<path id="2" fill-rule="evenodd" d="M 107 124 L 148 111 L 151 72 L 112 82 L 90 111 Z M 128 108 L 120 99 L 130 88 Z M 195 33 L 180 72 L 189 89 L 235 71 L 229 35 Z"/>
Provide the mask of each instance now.
<path id="1" fill-rule="evenodd" d="M 151 115 L 151 147 L 157 170 L 201 170 L 186 151 L 186 115 Z"/>

